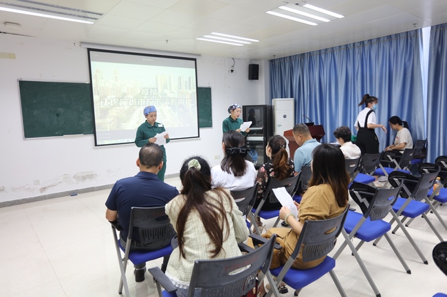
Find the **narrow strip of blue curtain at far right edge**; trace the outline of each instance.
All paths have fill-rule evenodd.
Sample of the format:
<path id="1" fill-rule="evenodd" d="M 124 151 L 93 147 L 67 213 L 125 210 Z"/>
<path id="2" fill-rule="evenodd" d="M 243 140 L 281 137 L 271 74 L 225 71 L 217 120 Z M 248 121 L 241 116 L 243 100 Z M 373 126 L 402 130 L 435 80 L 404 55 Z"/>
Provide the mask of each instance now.
<path id="1" fill-rule="evenodd" d="M 447 23 L 431 27 L 427 87 L 427 161 L 447 154 Z"/>

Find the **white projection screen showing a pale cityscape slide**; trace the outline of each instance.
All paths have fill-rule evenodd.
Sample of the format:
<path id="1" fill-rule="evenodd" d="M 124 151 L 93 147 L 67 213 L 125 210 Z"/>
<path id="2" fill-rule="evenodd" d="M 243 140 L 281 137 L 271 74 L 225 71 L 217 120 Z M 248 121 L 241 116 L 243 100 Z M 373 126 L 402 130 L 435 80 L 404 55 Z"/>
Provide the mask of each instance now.
<path id="1" fill-rule="evenodd" d="M 95 145 L 133 143 L 143 109 L 171 139 L 199 137 L 195 58 L 88 49 Z"/>

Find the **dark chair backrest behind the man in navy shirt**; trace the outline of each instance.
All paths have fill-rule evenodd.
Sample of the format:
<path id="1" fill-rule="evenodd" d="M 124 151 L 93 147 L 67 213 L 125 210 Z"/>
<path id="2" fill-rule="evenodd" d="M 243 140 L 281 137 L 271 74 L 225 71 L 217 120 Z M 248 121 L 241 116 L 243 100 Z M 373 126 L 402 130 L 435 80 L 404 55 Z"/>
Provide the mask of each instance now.
<path id="1" fill-rule="evenodd" d="M 142 244 L 166 242 L 167 246 L 175 236 L 175 230 L 164 212 L 164 206 L 132 207 L 128 241 L 132 238 L 133 232 L 138 232 Z"/>

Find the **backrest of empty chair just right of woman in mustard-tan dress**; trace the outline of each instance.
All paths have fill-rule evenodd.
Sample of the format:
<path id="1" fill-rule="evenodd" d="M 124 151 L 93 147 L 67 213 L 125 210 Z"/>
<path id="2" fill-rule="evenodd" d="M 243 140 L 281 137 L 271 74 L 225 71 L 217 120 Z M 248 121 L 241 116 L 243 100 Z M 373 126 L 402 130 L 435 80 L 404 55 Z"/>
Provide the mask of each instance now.
<path id="1" fill-rule="evenodd" d="M 371 221 L 383 219 L 399 196 L 403 183 L 395 188 L 375 188 L 360 182 L 354 182 L 349 187 L 351 198 L 360 206 L 364 217 Z"/>

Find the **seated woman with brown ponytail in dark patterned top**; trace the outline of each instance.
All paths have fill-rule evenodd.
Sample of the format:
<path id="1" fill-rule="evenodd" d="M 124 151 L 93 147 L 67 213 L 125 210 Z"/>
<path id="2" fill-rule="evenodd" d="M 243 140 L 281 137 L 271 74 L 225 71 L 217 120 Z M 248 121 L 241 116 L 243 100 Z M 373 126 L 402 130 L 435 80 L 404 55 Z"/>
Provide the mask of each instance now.
<path id="1" fill-rule="evenodd" d="M 285 178 L 291 178 L 295 174 L 294 161 L 292 161 L 292 158 L 289 158 L 289 154 L 285 150 L 285 145 L 286 141 L 283 136 L 274 135 L 270 137 L 265 146 L 265 154 L 270 158 L 270 161 L 264 163 L 258 171 L 256 178 L 258 193 L 256 202 L 254 203 L 255 209 L 259 205 L 259 202 L 261 202 L 269 178 L 284 180 Z M 262 210 L 272 211 L 274 209 L 281 209 L 281 203 L 270 204 L 268 200 L 265 200 Z"/>

